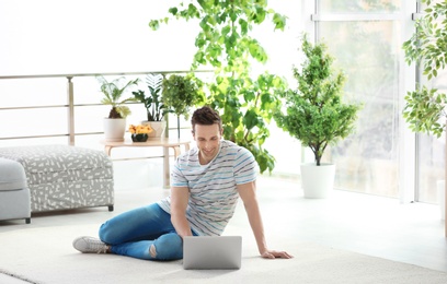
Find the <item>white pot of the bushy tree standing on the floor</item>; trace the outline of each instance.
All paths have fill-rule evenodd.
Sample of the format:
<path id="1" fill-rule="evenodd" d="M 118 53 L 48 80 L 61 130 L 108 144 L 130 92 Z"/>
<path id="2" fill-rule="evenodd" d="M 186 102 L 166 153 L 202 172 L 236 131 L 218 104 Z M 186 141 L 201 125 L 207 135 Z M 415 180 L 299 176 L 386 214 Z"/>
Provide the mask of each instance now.
<path id="1" fill-rule="evenodd" d="M 332 192 L 335 179 L 335 165 L 321 163 L 301 164 L 301 184 L 305 198 L 323 199 Z"/>

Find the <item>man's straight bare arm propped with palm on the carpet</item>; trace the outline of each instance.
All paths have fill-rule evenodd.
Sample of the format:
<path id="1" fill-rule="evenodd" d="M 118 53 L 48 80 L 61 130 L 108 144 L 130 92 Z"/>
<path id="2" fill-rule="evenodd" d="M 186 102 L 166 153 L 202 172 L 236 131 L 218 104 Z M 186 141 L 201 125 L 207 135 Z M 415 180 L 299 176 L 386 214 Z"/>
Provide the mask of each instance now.
<path id="1" fill-rule="evenodd" d="M 239 185 L 239 196 L 243 201 L 250 226 L 256 239 L 257 249 L 263 258 L 291 258 L 286 251 L 270 250 L 264 235 L 264 225 L 262 223 L 261 211 L 256 199 L 255 181 Z"/>

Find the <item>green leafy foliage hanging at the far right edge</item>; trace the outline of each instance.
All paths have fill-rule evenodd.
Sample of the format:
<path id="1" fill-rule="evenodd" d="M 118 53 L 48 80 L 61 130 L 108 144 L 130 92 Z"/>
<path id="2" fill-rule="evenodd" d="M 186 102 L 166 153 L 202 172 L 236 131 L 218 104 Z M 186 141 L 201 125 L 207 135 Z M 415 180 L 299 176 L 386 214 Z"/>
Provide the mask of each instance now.
<path id="1" fill-rule="evenodd" d="M 422 0 L 426 9 L 415 22 L 416 31 L 403 44 L 405 60 L 416 62 L 427 80 L 435 80 L 447 63 L 447 2 Z M 415 132 L 433 133 L 439 138 L 446 129 L 445 93 L 420 84 L 408 92 L 403 117 Z"/>

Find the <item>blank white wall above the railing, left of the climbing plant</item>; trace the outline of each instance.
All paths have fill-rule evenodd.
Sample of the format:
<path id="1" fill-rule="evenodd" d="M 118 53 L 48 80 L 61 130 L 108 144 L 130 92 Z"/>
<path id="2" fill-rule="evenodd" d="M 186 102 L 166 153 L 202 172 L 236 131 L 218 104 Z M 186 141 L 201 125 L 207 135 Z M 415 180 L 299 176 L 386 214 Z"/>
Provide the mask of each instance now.
<path id="1" fill-rule="evenodd" d="M 193 28 L 148 26 L 170 2 L 2 0 L 0 75 L 188 68 Z"/>

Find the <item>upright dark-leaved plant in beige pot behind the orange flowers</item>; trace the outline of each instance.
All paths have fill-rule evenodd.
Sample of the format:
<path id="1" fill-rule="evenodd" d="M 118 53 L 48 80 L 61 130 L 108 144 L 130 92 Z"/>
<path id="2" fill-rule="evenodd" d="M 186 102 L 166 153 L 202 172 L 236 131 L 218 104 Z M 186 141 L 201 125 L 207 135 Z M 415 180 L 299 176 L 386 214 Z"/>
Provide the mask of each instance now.
<path id="1" fill-rule="evenodd" d="M 167 128 L 164 116 L 170 113 L 161 99 L 163 75 L 150 73 L 146 76 L 146 83 L 149 88 L 149 95 L 146 95 L 146 92 L 141 90 L 131 93 L 136 100 L 145 105 L 147 120 L 141 121 L 141 123 L 148 123 L 152 128 L 153 131 L 149 133 L 149 137 L 160 138 Z"/>

